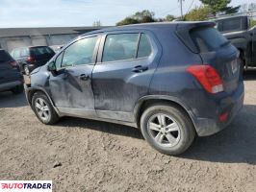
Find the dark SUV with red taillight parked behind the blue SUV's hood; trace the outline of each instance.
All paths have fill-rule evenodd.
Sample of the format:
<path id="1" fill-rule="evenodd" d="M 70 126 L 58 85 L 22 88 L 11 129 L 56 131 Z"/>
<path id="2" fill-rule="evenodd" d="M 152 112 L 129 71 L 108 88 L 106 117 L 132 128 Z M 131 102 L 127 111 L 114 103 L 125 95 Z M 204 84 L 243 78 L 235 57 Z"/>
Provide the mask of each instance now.
<path id="1" fill-rule="evenodd" d="M 50 60 L 55 52 L 48 46 L 33 46 L 13 49 L 11 55 L 18 61 L 20 71 L 29 74 Z"/>

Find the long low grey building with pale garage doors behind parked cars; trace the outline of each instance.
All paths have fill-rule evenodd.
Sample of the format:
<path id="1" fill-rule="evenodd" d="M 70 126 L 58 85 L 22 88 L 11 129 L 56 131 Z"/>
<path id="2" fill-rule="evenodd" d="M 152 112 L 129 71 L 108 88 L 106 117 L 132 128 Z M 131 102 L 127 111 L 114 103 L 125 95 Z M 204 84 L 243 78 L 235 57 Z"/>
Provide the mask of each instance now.
<path id="1" fill-rule="evenodd" d="M 38 45 L 63 45 L 76 36 L 103 27 L 0 28 L 0 49 Z"/>

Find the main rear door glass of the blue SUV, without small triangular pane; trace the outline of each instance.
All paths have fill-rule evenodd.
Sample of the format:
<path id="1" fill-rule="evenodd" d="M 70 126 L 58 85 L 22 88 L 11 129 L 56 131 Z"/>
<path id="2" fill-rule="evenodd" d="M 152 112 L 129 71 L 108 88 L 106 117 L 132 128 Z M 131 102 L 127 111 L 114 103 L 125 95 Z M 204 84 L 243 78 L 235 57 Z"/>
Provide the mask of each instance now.
<path id="1" fill-rule="evenodd" d="M 102 61 L 135 59 L 139 36 L 139 34 L 117 34 L 107 36 Z"/>

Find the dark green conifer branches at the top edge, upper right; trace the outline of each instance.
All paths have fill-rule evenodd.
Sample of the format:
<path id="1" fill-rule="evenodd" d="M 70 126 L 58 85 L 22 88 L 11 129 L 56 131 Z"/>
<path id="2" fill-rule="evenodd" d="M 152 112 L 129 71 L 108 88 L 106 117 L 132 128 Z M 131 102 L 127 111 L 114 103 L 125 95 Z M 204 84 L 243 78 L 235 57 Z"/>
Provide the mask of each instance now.
<path id="1" fill-rule="evenodd" d="M 213 13 L 223 12 L 231 0 L 200 0 L 204 5 L 209 6 Z"/>

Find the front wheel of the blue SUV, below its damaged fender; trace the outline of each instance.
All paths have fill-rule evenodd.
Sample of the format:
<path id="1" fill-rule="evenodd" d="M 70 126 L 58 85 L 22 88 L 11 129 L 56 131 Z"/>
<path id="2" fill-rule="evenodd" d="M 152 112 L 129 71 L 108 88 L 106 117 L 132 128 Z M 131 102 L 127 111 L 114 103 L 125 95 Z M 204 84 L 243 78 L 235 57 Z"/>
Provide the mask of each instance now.
<path id="1" fill-rule="evenodd" d="M 36 92 L 33 95 L 32 108 L 36 113 L 38 120 L 43 124 L 52 125 L 60 119 L 48 97 L 42 92 Z"/>

